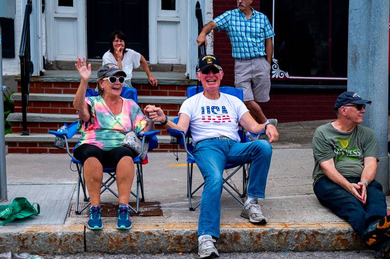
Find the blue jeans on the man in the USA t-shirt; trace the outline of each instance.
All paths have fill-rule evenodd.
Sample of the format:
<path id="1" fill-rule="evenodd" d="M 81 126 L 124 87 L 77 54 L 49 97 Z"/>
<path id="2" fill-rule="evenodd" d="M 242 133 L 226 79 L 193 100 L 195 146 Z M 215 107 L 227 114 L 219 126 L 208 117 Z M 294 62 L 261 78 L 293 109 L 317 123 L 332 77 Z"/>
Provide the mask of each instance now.
<path id="1" fill-rule="evenodd" d="M 219 238 L 220 197 L 225 165 L 252 163 L 249 170 L 248 195 L 264 199 L 272 147 L 265 140 L 240 143 L 232 139 L 211 139 L 196 144 L 193 155 L 205 182 L 200 204 L 198 236 L 211 235 Z"/>

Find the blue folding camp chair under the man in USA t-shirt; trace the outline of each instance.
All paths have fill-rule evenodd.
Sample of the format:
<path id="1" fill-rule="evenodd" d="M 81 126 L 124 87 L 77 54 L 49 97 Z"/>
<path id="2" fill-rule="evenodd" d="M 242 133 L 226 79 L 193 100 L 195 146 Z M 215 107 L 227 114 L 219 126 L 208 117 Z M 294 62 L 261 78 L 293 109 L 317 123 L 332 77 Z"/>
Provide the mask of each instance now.
<path id="1" fill-rule="evenodd" d="M 190 86 L 187 88 L 187 98 L 197 94 L 198 92 L 203 92 L 202 86 Z M 219 87 L 219 92 L 228 93 L 231 95 L 236 96 L 241 101 L 244 100 L 242 89 L 229 87 L 229 86 L 222 86 Z M 174 122 L 178 122 L 178 117 L 174 119 Z M 182 130 L 177 129 L 168 129 L 168 133 L 170 133 L 173 137 L 177 139 L 177 144 L 184 147 L 184 149 L 187 152 L 187 197 L 188 197 L 188 207 L 190 210 L 194 211 L 199 205 L 200 202 L 196 206 L 192 206 L 192 196 L 197 192 L 203 185 L 204 182 L 197 186 L 195 190 L 192 190 L 192 181 L 193 181 L 193 168 L 195 159 L 192 155 L 192 151 L 194 151 L 194 146 L 191 142 L 191 132 L 190 129 L 187 130 L 187 132 L 184 132 Z M 258 134 L 251 133 L 252 136 L 260 136 L 264 135 L 265 132 L 260 132 Z M 243 129 L 238 129 L 238 135 L 240 136 L 241 142 L 245 143 L 250 141 L 249 138 L 246 136 Z M 248 188 L 248 181 L 249 181 L 249 168 L 250 165 L 247 164 L 226 164 L 226 169 L 235 168 L 233 172 L 231 172 L 226 178 L 223 178 L 222 187 L 233 196 L 233 198 L 240 203 L 241 205 L 244 205 L 244 203 L 241 201 L 240 198 L 244 198 L 247 194 L 247 188 Z M 242 169 L 242 192 L 238 190 L 235 186 L 233 186 L 231 183 L 228 182 L 229 179 L 231 179 L 234 174 L 236 174 L 238 171 Z M 226 186 L 227 185 L 227 186 Z M 230 189 L 229 189 L 230 188 Z M 235 192 L 235 194 L 234 194 Z M 238 195 L 238 197 L 237 197 Z"/>

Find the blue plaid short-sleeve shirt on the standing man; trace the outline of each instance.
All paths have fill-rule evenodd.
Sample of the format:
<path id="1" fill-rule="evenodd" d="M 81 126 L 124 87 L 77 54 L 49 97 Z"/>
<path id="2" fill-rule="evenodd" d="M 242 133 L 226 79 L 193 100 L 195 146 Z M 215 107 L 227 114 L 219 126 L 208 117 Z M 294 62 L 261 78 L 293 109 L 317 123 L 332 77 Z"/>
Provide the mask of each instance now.
<path id="1" fill-rule="evenodd" d="M 228 33 L 234 58 L 266 56 L 265 39 L 275 35 L 268 18 L 253 8 L 252 11 L 253 14 L 248 20 L 238 8 L 213 19 L 217 31 L 226 30 Z"/>

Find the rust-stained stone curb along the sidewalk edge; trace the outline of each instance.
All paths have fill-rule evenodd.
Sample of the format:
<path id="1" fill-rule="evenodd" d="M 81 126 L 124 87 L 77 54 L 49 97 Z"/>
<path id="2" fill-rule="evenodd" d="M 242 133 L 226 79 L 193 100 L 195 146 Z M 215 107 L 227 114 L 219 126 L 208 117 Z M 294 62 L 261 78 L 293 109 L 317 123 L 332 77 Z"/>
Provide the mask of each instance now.
<path id="1" fill-rule="evenodd" d="M 197 223 L 137 223 L 131 230 L 106 224 L 103 230 L 83 224 L 0 227 L 0 253 L 30 254 L 188 253 L 196 252 Z M 221 252 L 336 251 L 365 249 L 344 222 L 221 223 L 216 246 Z"/>

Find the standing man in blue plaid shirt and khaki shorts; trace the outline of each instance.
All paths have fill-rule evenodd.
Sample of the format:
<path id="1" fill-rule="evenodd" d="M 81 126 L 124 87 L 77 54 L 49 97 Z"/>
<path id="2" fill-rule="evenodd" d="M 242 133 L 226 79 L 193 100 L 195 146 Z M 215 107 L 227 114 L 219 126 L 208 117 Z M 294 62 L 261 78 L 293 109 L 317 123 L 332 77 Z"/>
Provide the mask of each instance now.
<path id="1" fill-rule="evenodd" d="M 235 87 L 242 88 L 244 103 L 260 124 L 271 123 L 260 104 L 270 100 L 270 71 L 275 35 L 267 17 L 251 7 L 252 0 L 237 0 L 237 9 L 229 10 L 207 23 L 196 41 L 202 45 L 213 29 L 225 30 L 232 43 Z"/>

